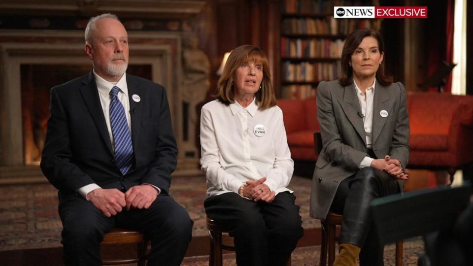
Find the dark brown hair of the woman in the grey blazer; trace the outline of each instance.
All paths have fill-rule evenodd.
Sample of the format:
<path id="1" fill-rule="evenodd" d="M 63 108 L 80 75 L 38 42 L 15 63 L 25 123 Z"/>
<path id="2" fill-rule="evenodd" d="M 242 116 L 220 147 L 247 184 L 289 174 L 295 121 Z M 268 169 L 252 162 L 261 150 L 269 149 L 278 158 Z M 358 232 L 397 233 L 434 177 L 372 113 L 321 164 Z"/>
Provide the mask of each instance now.
<path id="1" fill-rule="evenodd" d="M 362 29 L 357 30 L 348 35 L 343 45 L 343 50 L 341 52 L 341 75 L 338 79 L 338 82 L 343 86 L 348 86 L 353 83 L 353 69 L 349 66 L 351 61 L 351 55 L 355 52 L 356 48 L 360 45 L 363 38 L 373 37 L 378 41 L 378 51 L 380 54 L 384 54 L 384 41 L 379 32 L 373 29 Z M 376 80 L 383 86 L 388 86 L 393 83 L 393 77 L 388 76 L 384 73 L 384 60 L 381 62 L 381 65 L 376 71 Z"/>

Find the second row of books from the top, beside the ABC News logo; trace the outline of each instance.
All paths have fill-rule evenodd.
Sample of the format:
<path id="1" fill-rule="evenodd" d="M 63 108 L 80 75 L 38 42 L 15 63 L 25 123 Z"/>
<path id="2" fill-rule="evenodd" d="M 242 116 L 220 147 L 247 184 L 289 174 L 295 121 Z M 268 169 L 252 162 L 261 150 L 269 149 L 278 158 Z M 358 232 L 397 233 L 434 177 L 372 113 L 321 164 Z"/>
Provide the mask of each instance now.
<path id="1" fill-rule="evenodd" d="M 370 19 L 324 19 L 285 18 L 282 20 L 283 34 L 348 35 L 357 29 L 372 28 Z"/>

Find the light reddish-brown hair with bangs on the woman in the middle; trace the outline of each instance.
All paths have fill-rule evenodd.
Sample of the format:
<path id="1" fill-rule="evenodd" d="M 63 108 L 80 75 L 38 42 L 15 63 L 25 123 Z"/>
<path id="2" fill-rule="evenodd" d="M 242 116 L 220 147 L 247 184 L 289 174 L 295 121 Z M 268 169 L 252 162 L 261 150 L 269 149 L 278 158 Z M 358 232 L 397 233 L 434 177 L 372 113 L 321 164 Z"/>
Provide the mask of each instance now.
<path id="1" fill-rule="evenodd" d="M 241 45 L 235 48 L 227 59 L 223 73 L 217 83 L 216 97 L 221 102 L 229 105 L 235 102 L 234 78 L 238 67 L 243 63 L 253 62 L 263 66 L 263 79 L 261 89 L 255 94 L 258 109 L 264 110 L 276 105 L 276 97 L 271 85 L 270 66 L 263 50 L 254 45 Z"/>

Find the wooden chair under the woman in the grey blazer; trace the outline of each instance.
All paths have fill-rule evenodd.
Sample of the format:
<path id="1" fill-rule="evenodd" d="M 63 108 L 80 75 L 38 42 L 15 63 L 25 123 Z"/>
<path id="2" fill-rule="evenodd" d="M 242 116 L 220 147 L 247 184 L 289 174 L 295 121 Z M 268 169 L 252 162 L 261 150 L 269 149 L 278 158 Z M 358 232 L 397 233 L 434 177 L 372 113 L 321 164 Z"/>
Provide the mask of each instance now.
<path id="1" fill-rule="evenodd" d="M 317 156 L 322 150 L 322 136 L 320 132 L 314 132 L 314 148 Z M 335 241 L 338 241 L 337 226 L 341 227 L 343 215 L 329 212 L 325 220 L 320 220 L 322 224 L 322 244 L 320 246 L 319 266 L 327 264 L 327 252 L 329 255 L 329 266 L 335 261 Z M 403 265 L 403 241 L 396 242 L 396 266 Z"/>

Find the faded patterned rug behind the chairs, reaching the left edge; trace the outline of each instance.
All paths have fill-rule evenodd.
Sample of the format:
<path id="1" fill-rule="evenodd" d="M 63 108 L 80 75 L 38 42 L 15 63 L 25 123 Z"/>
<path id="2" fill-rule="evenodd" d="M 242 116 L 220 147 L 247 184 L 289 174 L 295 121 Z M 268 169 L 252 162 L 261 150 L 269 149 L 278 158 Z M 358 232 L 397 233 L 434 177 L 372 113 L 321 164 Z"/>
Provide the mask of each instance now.
<path id="1" fill-rule="evenodd" d="M 309 217 L 310 179 L 294 176 L 290 189 L 301 206 L 305 229 L 318 228 Z M 205 229 L 205 177 L 173 178 L 171 196 L 184 206 L 194 220 L 194 236 Z M 58 214 L 57 190 L 49 183 L 0 186 L 0 251 L 60 247 L 62 224 Z"/>

